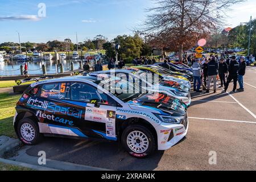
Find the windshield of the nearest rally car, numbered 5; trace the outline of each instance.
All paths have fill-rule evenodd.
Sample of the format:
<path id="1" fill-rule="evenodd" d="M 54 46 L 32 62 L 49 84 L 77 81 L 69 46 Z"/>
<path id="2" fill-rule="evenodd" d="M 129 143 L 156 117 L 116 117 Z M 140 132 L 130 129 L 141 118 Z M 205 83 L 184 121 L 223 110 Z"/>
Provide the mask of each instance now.
<path id="1" fill-rule="evenodd" d="M 142 89 L 137 88 L 133 82 L 121 78 L 108 78 L 98 83 L 99 86 L 108 90 L 122 101 L 134 100 L 143 95 Z"/>

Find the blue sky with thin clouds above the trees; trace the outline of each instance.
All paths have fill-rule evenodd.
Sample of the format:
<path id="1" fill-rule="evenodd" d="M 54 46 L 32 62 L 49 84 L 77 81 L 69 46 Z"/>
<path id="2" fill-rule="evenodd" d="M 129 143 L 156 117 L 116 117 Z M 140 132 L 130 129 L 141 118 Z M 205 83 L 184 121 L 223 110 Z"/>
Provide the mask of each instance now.
<path id="1" fill-rule="evenodd" d="M 76 32 L 79 42 L 96 35 L 109 40 L 133 35 L 132 30 L 142 24 L 146 9 L 152 6 L 153 0 L 1 0 L 0 43 L 18 42 L 18 32 L 21 42 L 36 43 L 66 38 L 76 42 Z M 250 16 L 256 18 L 256 0 L 232 9 L 227 13 L 227 27 L 248 22 Z"/>

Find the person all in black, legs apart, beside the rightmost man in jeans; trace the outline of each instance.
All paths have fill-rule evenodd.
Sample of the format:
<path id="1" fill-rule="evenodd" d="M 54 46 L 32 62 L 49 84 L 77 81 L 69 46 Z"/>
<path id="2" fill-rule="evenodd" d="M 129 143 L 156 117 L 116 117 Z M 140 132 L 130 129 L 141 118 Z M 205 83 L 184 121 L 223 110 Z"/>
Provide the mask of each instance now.
<path id="1" fill-rule="evenodd" d="M 225 92 L 226 90 L 228 90 L 229 84 L 232 80 L 234 81 L 234 87 L 232 92 L 233 93 L 236 92 L 238 68 L 239 68 L 239 63 L 236 60 L 236 56 L 232 56 L 232 60 L 230 61 L 230 64 L 229 64 L 229 76 L 226 81 Z"/>

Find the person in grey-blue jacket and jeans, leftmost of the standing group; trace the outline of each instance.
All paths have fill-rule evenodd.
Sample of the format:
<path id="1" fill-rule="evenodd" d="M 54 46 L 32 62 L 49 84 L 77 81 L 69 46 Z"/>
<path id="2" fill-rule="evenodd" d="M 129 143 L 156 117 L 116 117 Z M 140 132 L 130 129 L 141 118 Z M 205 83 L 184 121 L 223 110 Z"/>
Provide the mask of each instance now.
<path id="1" fill-rule="evenodd" d="M 202 92 L 201 87 L 201 65 L 198 63 L 199 60 L 195 60 L 192 65 L 193 80 L 194 80 L 194 92 Z"/>

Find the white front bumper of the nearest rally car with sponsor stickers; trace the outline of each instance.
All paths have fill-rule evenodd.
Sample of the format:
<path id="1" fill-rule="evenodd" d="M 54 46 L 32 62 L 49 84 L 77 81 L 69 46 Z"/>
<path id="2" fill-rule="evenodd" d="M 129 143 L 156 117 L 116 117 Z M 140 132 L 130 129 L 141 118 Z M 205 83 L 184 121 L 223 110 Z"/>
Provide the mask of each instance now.
<path id="1" fill-rule="evenodd" d="M 156 128 L 158 133 L 158 150 L 168 150 L 188 133 L 188 117 L 184 117 L 183 122 L 179 125 L 171 123 L 161 123 Z"/>

